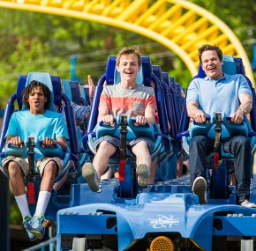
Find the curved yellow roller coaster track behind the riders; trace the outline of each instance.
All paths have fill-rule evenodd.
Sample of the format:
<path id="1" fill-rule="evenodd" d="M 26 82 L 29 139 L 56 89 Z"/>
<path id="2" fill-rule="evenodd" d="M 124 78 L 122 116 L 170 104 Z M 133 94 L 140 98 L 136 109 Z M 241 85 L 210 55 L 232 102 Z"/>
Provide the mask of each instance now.
<path id="1" fill-rule="evenodd" d="M 192 76 L 199 64 L 197 49 L 204 43 L 215 44 L 223 54 L 243 59 L 254 86 L 245 49 L 230 27 L 184 0 L 0 0 L 0 7 L 85 19 L 139 33 L 173 51 Z"/>

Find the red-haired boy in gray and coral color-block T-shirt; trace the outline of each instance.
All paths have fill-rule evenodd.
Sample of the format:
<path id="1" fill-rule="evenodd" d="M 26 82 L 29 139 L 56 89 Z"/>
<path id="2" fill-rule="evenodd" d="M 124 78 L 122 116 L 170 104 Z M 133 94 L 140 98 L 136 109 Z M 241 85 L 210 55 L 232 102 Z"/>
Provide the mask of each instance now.
<path id="1" fill-rule="evenodd" d="M 146 123 L 154 125 L 156 111 L 154 89 L 136 83 L 141 67 L 139 48 L 121 49 L 117 54 L 116 67 L 121 80 L 117 85 L 106 85 L 103 88 L 98 122 L 102 121 L 114 126 L 114 119 L 118 114 L 130 114 L 138 125 Z M 82 176 L 91 190 L 97 192 L 100 190 L 99 180 L 108 168 L 109 158 L 117 153 L 120 139 L 105 136 L 98 139 L 95 144 L 97 152 L 93 163 L 87 162 L 82 167 Z M 154 183 L 155 167 L 151 165 L 150 155 L 150 151 L 154 148 L 154 141 L 147 137 L 138 137 L 130 141 L 128 147 L 136 157 L 139 187 L 146 188 L 148 183 Z"/>

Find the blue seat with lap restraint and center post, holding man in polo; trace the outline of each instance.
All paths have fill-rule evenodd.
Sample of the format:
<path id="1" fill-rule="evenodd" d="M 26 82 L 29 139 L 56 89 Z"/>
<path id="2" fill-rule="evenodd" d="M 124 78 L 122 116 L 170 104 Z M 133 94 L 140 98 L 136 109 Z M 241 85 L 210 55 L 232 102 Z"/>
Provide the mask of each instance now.
<path id="1" fill-rule="evenodd" d="M 241 59 L 233 58 L 230 55 L 223 55 L 223 71 L 228 74 L 242 73 L 243 64 Z M 206 77 L 204 71 L 199 69 L 199 74 L 194 78 Z M 233 172 L 234 158 L 230 153 L 225 152 L 222 149 L 221 139 L 225 139 L 234 135 L 244 135 L 249 137 L 251 142 L 251 154 L 255 152 L 256 133 L 255 129 L 255 91 L 252 87 L 251 81 L 247 79 L 248 84 L 252 89 L 252 101 L 253 108 L 250 114 L 250 122 L 245 116 L 245 120 L 241 124 L 235 124 L 230 122 L 230 118 L 226 117 L 222 112 L 215 112 L 213 117 L 207 117 L 207 122 L 196 123 L 192 122 L 188 130 L 182 131 L 177 135 L 177 138 L 182 138 L 182 144 L 184 151 L 189 154 L 189 142 L 195 135 L 205 135 L 209 138 L 215 139 L 215 152 L 210 153 L 207 156 L 207 168 L 212 169 L 212 173 L 208 176 L 210 183 L 210 189 L 208 189 L 208 203 L 221 203 L 221 201 L 215 201 L 218 199 L 228 199 L 229 203 L 235 203 L 235 189 L 230 187 L 229 173 Z M 188 120 L 187 120 L 188 123 Z M 216 144 L 220 142 L 220 144 Z M 210 172 L 209 172 L 210 173 Z"/>

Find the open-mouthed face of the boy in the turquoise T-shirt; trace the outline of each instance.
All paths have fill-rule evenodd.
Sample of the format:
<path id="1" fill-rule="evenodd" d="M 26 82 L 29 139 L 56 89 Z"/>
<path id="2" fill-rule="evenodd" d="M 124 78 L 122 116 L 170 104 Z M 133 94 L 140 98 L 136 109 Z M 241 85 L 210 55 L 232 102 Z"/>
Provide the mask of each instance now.
<path id="1" fill-rule="evenodd" d="M 35 86 L 28 95 L 29 111 L 32 114 L 44 114 L 47 98 L 41 86 Z"/>

